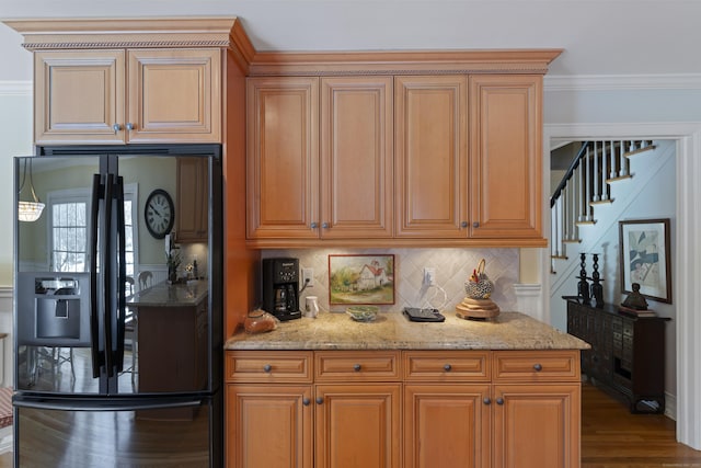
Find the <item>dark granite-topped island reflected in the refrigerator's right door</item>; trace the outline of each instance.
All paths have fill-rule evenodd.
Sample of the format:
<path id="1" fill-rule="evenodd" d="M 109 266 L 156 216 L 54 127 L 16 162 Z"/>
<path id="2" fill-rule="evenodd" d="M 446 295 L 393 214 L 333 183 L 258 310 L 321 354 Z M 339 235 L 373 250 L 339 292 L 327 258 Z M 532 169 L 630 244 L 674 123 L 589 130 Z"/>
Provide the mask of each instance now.
<path id="1" fill-rule="evenodd" d="M 206 388 L 208 283 L 159 283 L 127 300 L 137 320 L 139 392 L 182 392 Z M 162 415 L 162 412 L 159 414 Z M 139 414 L 147 418 L 148 412 Z M 192 418 L 192 409 L 174 411 Z"/>

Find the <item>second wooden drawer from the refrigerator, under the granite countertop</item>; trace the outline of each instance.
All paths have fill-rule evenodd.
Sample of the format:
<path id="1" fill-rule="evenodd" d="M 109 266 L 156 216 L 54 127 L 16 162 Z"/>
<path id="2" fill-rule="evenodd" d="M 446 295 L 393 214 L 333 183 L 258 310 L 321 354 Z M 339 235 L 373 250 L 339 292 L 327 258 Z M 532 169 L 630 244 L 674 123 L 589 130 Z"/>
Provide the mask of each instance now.
<path id="1" fill-rule="evenodd" d="M 397 351 L 317 351 L 315 381 L 392 381 L 401 378 Z"/>

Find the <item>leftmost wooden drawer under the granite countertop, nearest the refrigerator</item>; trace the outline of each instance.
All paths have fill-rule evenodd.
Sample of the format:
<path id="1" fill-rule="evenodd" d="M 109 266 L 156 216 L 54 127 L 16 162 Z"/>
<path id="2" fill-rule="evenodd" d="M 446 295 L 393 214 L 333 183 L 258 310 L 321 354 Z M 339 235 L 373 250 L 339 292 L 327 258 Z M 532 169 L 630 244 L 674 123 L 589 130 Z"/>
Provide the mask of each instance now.
<path id="1" fill-rule="evenodd" d="M 227 381 L 311 383 L 311 351 L 227 351 Z"/>

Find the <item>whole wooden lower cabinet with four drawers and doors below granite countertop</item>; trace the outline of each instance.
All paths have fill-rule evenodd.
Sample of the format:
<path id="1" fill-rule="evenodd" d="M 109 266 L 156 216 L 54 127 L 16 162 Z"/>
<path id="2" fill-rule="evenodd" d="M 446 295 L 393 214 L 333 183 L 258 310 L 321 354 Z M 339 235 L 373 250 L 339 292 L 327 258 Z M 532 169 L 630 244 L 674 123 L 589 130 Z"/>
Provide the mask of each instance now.
<path id="1" fill-rule="evenodd" d="M 226 373 L 228 467 L 579 467 L 577 350 L 228 351 Z"/>

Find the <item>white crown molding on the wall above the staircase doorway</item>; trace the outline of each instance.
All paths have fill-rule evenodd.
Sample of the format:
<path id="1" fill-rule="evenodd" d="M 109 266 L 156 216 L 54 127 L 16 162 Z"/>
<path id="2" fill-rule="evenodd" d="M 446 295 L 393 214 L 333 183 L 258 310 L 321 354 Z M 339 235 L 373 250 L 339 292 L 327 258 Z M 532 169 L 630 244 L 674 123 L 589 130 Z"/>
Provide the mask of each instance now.
<path id="1" fill-rule="evenodd" d="M 701 73 L 545 76 L 545 91 L 701 90 Z"/>

